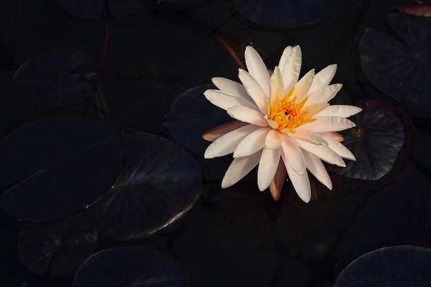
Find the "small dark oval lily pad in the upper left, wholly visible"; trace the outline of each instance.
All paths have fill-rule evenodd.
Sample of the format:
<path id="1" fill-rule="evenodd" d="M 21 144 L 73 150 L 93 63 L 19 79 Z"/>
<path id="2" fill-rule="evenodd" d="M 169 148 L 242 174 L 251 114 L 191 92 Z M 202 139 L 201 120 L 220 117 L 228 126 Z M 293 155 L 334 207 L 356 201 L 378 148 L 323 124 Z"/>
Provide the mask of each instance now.
<path id="1" fill-rule="evenodd" d="M 94 96 L 98 68 L 89 54 L 54 48 L 33 56 L 15 72 L 18 94 L 49 107 L 61 107 Z"/>

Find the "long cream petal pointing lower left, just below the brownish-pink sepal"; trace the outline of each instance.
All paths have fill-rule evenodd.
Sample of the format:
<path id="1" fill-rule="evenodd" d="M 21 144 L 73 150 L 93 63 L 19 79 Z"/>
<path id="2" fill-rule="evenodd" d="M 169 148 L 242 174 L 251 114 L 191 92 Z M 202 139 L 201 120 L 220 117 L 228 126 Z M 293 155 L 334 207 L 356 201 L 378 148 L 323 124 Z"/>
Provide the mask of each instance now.
<path id="1" fill-rule="evenodd" d="M 256 125 L 246 125 L 230 131 L 224 134 L 224 136 L 220 136 L 220 138 L 207 147 L 204 158 L 215 158 L 217 156 L 226 156 L 229 153 L 233 153 L 241 140 L 253 133 L 256 129 L 259 129 Z"/>

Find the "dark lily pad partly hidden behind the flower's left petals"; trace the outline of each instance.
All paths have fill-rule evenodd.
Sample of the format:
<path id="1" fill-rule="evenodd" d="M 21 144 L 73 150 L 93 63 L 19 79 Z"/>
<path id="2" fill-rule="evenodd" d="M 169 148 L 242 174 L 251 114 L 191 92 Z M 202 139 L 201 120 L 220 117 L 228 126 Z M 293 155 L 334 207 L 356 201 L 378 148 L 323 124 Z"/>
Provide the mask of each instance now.
<path id="1" fill-rule="evenodd" d="M 209 142 L 202 139 L 202 134 L 232 120 L 224 109 L 216 107 L 204 97 L 207 89 L 215 87 L 203 85 L 180 94 L 165 116 L 167 121 L 163 123 L 178 145 L 198 156 L 202 156 L 209 146 Z"/>

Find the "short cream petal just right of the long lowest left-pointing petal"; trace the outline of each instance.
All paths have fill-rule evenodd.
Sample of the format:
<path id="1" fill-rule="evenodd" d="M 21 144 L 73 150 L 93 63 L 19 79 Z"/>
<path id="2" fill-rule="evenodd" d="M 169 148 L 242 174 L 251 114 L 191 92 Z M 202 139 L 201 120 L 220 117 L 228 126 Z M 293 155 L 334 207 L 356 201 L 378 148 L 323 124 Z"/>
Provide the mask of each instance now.
<path id="1" fill-rule="evenodd" d="M 268 127 L 261 127 L 259 129 L 255 129 L 255 131 L 242 138 L 233 151 L 233 158 L 250 156 L 256 151 L 262 149 L 265 146 L 265 138 L 268 131 Z"/>

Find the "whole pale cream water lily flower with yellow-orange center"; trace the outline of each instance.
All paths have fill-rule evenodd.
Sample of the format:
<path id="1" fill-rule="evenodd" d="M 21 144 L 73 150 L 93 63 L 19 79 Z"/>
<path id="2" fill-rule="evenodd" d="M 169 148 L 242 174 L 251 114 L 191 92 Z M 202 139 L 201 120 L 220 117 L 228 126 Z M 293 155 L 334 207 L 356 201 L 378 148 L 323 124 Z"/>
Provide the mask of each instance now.
<path id="1" fill-rule="evenodd" d="M 299 198 L 309 202 L 307 170 L 332 189 L 322 160 L 340 167 L 346 167 L 343 158 L 355 160 L 341 144 L 337 131 L 355 127 L 347 118 L 361 108 L 328 104 L 341 89 L 341 84 L 329 85 L 337 65 L 328 65 L 317 74 L 313 69 L 298 81 L 301 61 L 300 47 L 288 46 L 271 74 L 259 54 L 248 46 L 248 72 L 239 69 L 241 83 L 212 79 L 218 89 L 208 89 L 204 96 L 235 119 L 203 136 L 213 141 L 204 158 L 233 153 L 222 188 L 235 184 L 259 164 L 260 191 L 269 187 L 278 200 L 287 174 Z"/>

